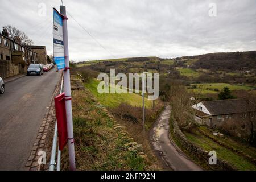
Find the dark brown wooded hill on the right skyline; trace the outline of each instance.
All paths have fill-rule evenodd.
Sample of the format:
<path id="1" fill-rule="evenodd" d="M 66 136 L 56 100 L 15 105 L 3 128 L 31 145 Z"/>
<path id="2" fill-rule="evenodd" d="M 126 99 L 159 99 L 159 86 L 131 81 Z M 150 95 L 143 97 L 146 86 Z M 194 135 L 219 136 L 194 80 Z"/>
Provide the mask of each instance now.
<path id="1" fill-rule="evenodd" d="M 181 60 L 197 59 L 191 67 L 210 69 L 212 71 L 238 71 L 256 69 L 256 51 L 220 52 L 198 56 L 185 56 Z"/>

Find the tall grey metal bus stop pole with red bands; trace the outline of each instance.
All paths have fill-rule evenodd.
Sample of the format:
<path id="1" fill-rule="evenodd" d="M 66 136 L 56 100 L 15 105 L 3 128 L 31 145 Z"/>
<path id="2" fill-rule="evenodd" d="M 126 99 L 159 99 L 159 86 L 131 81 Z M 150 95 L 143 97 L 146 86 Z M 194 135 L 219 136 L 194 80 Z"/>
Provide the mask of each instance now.
<path id="1" fill-rule="evenodd" d="M 76 170 L 75 161 L 75 144 L 73 134 L 73 115 L 72 115 L 72 101 L 71 101 L 71 83 L 70 83 L 70 69 L 69 69 L 69 53 L 68 53 L 68 25 L 66 7 L 60 6 L 60 14 L 64 16 L 63 19 L 63 42 L 65 53 L 65 70 L 64 70 L 64 91 L 65 104 L 67 111 L 67 129 L 68 129 L 68 151 L 69 151 L 69 165 L 72 171 Z"/>

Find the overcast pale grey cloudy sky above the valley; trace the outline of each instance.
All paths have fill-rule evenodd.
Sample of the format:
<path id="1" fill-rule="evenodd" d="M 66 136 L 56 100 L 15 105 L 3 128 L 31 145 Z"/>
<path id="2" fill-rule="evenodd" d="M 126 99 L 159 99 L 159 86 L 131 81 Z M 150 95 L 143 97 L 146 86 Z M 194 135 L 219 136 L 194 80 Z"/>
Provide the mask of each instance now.
<path id="1" fill-rule="evenodd" d="M 46 16 L 40 14 L 40 3 Z M 120 57 L 179 57 L 256 50 L 256 1 L 63 0 L 69 17 L 69 57 L 75 61 Z M 217 16 L 209 16 L 216 3 Z M 53 10 L 61 0 L 0 0 L 0 26 L 18 27 L 36 45 L 52 48 Z M 211 6 L 212 7 L 212 6 Z M 212 11 L 211 11 L 212 12 Z"/>

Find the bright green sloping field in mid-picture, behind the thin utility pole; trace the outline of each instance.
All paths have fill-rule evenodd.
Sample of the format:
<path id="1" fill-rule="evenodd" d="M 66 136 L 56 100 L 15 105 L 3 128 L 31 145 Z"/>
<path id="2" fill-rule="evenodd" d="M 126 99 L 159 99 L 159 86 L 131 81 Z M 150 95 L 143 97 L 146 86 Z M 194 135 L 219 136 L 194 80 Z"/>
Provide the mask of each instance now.
<path id="1" fill-rule="evenodd" d="M 133 106 L 142 107 L 142 96 L 135 93 L 115 93 L 115 94 L 100 94 L 98 93 L 98 84 L 99 81 L 93 79 L 85 84 L 85 87 L 92 92 L 92 94 L 98 99 L 106 107 L 118 107 L 121 103 L 127 103 Z M 152 101 L 147 100 L 145 101 L 146 108 L 151 108 Z"/>

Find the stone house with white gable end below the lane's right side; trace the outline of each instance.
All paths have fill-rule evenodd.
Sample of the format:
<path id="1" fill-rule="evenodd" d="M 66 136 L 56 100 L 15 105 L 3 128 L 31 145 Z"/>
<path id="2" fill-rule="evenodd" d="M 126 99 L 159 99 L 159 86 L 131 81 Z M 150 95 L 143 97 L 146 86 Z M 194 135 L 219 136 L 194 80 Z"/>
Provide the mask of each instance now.
<path id="1" fill-rule="evenodd" d="M 219 128 L 231 123 L 229 130 L 236 131 L 240 127 L 240 133 L 250 130 L 251 121 L 255 126 L 256 105 L 250 101 L 241 99 L 203 101 L 192 107 L 196 110 L 195 120 L 200 125 Z"/>

